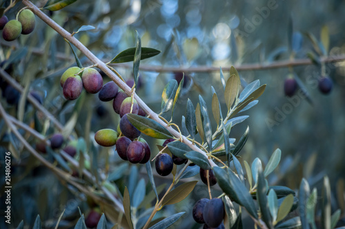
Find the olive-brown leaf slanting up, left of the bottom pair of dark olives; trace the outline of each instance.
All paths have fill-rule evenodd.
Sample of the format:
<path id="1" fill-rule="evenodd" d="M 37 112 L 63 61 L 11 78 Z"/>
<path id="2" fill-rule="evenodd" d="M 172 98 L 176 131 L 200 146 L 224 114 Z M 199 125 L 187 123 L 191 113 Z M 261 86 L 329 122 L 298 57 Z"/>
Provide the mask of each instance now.
<path id="1" fill-rule="evenodd" d="M 174 190 L 171 190 L 166 197 L 164 198 L 161 206 L 176 204 L 179 201 L 184 200 L 189 193 L 191 193 L 197 184 L 197 181 L 187 182 L 176 187 Z"/>

